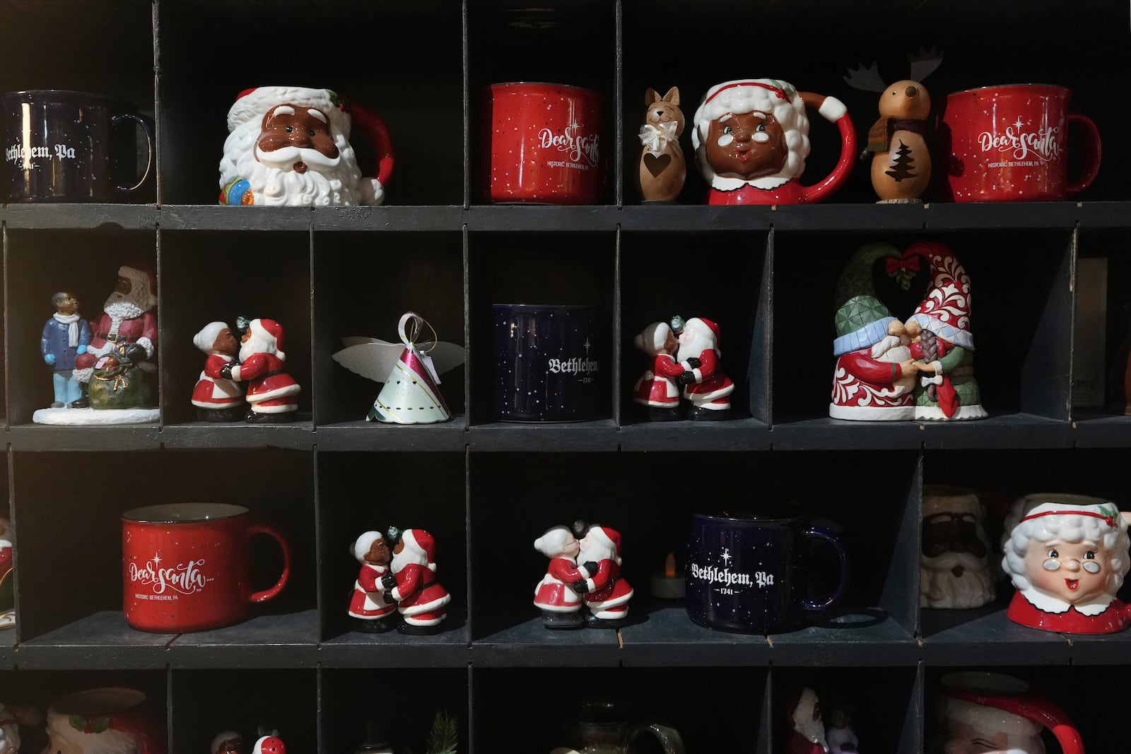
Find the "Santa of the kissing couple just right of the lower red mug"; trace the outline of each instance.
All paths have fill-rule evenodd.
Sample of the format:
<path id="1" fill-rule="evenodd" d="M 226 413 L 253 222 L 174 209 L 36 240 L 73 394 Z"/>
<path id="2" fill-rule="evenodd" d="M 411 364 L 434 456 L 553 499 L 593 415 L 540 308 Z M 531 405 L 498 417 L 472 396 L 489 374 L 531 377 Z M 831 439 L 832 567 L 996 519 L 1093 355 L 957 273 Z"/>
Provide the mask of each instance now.
<path id="1" fill-rule="evenodd" d="M 423 529 L 405 529 L 392 548 L 381 584 L 404 618 L 402 633 L 435 633 L 448 617 L 451 595 L 435 580 L 435 541 Z"/>

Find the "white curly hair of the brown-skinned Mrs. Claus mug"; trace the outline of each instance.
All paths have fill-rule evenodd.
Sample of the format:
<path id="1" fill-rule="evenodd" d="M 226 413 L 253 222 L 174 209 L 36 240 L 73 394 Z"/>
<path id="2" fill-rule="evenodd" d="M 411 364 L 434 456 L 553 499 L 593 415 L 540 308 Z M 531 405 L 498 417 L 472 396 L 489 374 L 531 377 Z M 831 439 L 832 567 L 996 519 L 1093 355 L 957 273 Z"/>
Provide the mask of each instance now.
<path id="1" fill-rule="evenodd" d="M 727 113 L 770 113 L 782 124 L 785 132 L 785 144 L 789 156 L 785 165 L 775 175 L 745 181 L 742 179 L 720 177 L 707 164 L 707 132 L 710 122 Z M 702 103 L 696 111 L 691 129 L 691 144 L 696 148 L 696 161 L 711 188 L 723 191 L 733 190 L 746 183 L 770 181 L 782 183 L 782 179 L 801 175 L 805 170 L 805 157 L 809 156 L 809 118 L 805 115 L 805 103 L 797 96 L 797 90 L 786 84 L 768 78 L 737 79 L 717 84 L 707 90 Z"/>

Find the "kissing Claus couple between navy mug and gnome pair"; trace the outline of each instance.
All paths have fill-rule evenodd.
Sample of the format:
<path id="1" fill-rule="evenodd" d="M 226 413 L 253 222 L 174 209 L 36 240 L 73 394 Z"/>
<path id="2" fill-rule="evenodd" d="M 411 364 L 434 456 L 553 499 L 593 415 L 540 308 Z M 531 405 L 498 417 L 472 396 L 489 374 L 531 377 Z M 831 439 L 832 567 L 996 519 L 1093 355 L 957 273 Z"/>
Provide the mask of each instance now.
<path id="1" fill-rule="evenodd" d="M 673 422 L 680 414 L 680 396 L 689 401 L 687 417 L 717 422 L 734 416 L 731 393 L 734 382 L 722 367 L 719 327 L 693 317 L 684 321 L 653 322 L 638 335 L 636 347 L 648 355 L 648 369 L 637 380 L 632 399 L 646 406 L 653 422 Z"/>

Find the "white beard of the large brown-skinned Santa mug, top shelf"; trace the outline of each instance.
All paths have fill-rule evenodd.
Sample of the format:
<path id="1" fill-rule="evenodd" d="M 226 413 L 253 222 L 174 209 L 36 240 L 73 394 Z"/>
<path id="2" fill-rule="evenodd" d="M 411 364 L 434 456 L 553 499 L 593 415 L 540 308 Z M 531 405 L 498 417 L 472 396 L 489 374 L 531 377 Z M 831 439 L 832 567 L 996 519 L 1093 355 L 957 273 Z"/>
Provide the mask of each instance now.
<path id="1" fill-rule="evenodd" d="M 276 207 L 379 203 L 373 201 L 372 182 L 361 180 L 354 150 L 340 133 L 334 136 L 338 156 L 331 159 L 316 149 L 297 147 L 259 151 L 259 128 L 254 121 L 228 135 L 221 161 L 221 187 L 234 176 L 247 179 L 257 205 Z M 294 172 L 300 159 L 309 166 L 305 173 Z"/>

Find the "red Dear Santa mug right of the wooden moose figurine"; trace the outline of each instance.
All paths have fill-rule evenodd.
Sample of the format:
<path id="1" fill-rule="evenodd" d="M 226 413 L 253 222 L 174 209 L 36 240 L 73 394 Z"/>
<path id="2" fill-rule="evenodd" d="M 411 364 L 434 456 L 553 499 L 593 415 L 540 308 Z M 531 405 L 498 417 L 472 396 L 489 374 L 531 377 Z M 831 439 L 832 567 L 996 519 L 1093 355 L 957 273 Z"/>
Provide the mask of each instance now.
<path id="1" fill-rule="evenodd" d="M 1069 89 L 1045 84 L 987 86 L 948 95 L 940 147 L 943 193 L 953 201 L 1062 201 L 1099 172 L 1099 131 L 1068 112 Z M 1080 176 L 1068 179 L 1068 129 L 1082 139 Z"/>

